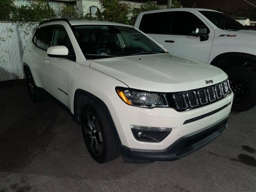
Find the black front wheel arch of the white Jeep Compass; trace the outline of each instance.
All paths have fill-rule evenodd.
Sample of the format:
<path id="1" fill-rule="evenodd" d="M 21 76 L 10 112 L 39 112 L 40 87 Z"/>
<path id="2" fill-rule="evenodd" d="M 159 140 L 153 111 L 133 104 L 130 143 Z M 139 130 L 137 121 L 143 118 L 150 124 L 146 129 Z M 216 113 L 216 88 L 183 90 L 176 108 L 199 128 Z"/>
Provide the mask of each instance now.
<path id="1" fill-rule="evenodd" d="M 108 122 L 110 124 L 110 127 L 114 133 L 114 136 L 116 138 L 118 138 L 119 143 L 120 142 L 120 138 L 116 129 L 116 126 L 114 124 L 114 120 L 110 114 L 110 111 L 108 109 L 108 107 L 106 106 L 106 104 L 97 96 L 82 90 L 82 89 L 76 89 L 75 93 L 74 93 L 74 101 L 73 101 L 73 106 L 74 106 L 74 121 L 76 123 L 78 123 L 79 125 L 81 124 L 81 114 L 82 114 L 82 109 L 84 108 L 84 106 L 86 106 L 87 104 L 89 104 L 90 100 L 93 100 L 94 102 L 96 102 L 98 105 L 100 105 L 102 107 L 102 109 L 104 110 Z"/>

